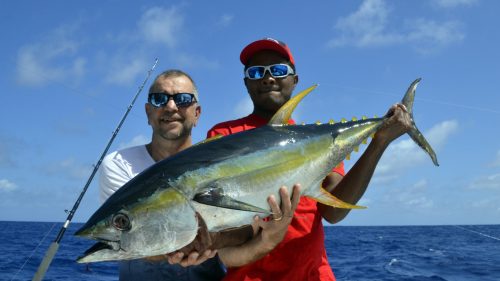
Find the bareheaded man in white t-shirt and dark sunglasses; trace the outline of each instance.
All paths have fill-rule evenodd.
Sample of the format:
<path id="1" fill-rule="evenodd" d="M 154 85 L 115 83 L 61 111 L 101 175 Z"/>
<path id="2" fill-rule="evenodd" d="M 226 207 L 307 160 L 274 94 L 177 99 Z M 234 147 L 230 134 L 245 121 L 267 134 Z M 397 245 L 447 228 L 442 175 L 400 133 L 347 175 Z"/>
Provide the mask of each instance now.
<path id="1" fill-rule="evenodd" d="M 196 85 L 188 74 L 168 70 L 156 77 L 145 105 L 153 129 L 151 142 L 112 152 L 104 158 L 99 181 L 102 202 L 155 162 L 192 145 L 191 130 L 201 114 L 198 102 Z M 199 265 L 191 267 L 169 264 L 167 256 L 122 261 L 120 280 L 220 280 L 224 270 L 214 255 L 215 251 L 210 250 L 193 252 L 189 255 L 191 264 Z"/>

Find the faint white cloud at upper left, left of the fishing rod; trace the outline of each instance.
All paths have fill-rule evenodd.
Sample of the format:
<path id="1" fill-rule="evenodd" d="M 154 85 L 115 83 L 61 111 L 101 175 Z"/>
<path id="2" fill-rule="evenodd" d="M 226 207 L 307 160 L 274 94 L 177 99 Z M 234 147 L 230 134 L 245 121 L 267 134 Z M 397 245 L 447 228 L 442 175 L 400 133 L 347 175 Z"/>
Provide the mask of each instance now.
<path id="1" fill-rule="evenodd" d="M 17 82 L 43 86 L 51 82 L 74 81 L 85 74 L 86 59 L 78 56 L 80 43 L 70 37 L 74 26 L 52 31 L 44 40 L 20 48 Z"/>

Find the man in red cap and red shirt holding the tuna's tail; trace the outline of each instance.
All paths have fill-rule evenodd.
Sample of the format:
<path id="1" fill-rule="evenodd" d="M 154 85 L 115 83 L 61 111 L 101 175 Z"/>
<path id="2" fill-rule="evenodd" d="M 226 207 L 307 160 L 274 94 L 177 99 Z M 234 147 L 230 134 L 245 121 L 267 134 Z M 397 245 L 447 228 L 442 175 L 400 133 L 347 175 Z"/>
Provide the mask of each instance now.
<path id="1" fill-rule="evenodd" d="M 215 125 L 207 137 L 264 126 L 290 99 L 299 81 L 292 53 L 281 41 L 272 38 L 255 41 L 243 49 L 240 60 L 245 66 L 244 81 L 254 105 L 253 112 Z M 404 106 L 393 105 L 388 115 L 391 117 L 352 169 L 344 176 L 341 163 L 323 181 L 323 187 L 340 200 L 358 202 L 384 150 L 409 130 L 409 114 Z M 260 222 L 262 229 L 250 242 L 219 250 L 221 260 L 228 267 L 224 280 L 335 280 L 326 256 L 322 219 L 336 223 L 349 210 L 302 197 L 293 214 L 285 212 L 281 218 L 269 220 L 269 225 Z"/>

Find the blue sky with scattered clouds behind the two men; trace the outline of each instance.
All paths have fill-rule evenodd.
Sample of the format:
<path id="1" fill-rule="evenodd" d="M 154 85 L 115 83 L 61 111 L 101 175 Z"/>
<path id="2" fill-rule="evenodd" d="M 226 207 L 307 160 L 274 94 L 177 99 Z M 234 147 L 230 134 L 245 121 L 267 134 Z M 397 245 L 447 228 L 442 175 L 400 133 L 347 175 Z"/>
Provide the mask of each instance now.
<path id="1" fill-rule="evenodd" d="M 198 84 L 195 141 L 250 113 L 239 52 L 274 37 L 295 56 L 298 90 L 320 85 L 298 122 L 381 116 L 422 77 L 415 120 L 441 166 L 408 137 L 394 142 L 368 209 L 343 225 L 499 223 L 500 2 L 136 2 L 0 4 L 0 220 L 65 220 L 155 58 L 153 76 L 180 68 Z M 149 140 L 145 100 L 110 151 Z M 96 183 L 74 221 L 98 208 Z"/>

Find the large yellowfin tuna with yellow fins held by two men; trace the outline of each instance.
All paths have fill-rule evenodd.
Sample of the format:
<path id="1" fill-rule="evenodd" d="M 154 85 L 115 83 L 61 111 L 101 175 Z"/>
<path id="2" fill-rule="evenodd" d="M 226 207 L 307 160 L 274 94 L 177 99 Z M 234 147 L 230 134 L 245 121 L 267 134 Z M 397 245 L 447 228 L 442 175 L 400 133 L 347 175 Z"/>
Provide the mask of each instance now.
<path id="1" fill-rule="evenodd" d="M 413 122 L 419 81 L 402 100 L 413 123 L 408 134 L 438 165 Z M 301 183 L 302 196 L 337 208 L 362 208 L 335 198 L 321 183 L 387 117 L 285 125 L 314 88 L 290 99 L 266 126 L 205 140 L 138 174 L 76 232 L 99 241 L 77 261 L 136 259 L 179 250 L 195 239 L 198 216 L 209 232 L 248 225 L 255 214 L 271 214 L 266 199 L 270 194 L 280 198 L 282 185 Z"/>

